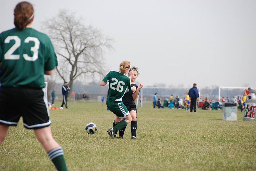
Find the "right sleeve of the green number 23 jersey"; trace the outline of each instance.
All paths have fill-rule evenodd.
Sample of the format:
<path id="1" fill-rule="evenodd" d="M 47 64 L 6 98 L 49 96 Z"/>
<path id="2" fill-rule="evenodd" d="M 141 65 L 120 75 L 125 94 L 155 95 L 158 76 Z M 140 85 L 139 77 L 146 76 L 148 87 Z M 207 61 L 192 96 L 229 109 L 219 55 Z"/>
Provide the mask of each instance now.
<path id="1" fill-rule="evenodd" d="M 55 66 L 58 66 L 57 56 L 50 38 L 48 38 L 45 49 L 48 51 L 48 55 L 45 56 L 44 70 L 50 71 L 53 70 Z"/>

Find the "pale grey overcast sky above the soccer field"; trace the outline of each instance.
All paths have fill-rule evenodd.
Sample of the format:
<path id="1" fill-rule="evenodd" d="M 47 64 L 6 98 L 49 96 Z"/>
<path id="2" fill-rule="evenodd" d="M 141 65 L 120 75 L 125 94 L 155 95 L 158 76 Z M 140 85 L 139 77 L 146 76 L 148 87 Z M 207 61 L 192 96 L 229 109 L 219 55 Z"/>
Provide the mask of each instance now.
<path id="1" fill-rule="evenodd" d="M 0 32 L 14 27 L 17 0 L 0 1 Z M 139 67 L 145 86 L 256 87 L 255 0 L 30 0 L 32 27 L 60 9 L 83 16 L 115 40 L 108 70 L 123 60 Z M 107 74 L 107 73 L 106 73 Z"/>

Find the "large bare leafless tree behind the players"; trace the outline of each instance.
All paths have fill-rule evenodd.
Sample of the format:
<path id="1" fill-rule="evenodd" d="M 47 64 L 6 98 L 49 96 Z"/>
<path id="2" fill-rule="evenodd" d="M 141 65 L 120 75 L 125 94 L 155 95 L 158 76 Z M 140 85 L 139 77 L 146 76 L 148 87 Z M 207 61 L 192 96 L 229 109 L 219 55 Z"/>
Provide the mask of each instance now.
<path id="1" fill-rule="evenodd" d="M 91 25 L 85 26 L 83 21 L 82 17 L 76 18 L 74 13 L 61 10 L 43 26 L 59 57 L 56 70 L 61 79 L 68 82 L 70 92 L 78 77 L 102 74 L 104 50 L 112 49 L 112 39 Z"/>

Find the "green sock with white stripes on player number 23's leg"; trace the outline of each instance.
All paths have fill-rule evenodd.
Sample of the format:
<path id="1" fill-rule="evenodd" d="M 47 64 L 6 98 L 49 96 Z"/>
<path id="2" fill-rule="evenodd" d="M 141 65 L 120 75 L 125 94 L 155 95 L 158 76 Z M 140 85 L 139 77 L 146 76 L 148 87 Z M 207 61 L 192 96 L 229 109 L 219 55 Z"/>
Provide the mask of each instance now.
<path id="1" fill-rule="evenodd" d="M 61 147 L 56 147 L 48 152 L 49 158 L 58 171 L 67 171 L 64 153 Z"/>

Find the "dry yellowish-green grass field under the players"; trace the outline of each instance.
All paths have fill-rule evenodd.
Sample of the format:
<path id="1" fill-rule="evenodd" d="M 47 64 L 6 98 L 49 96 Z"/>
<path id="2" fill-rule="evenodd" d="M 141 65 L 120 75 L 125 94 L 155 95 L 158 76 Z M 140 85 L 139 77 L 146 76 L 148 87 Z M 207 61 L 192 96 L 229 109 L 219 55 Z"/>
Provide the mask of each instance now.
<path id="1" fill-rule="evenodd" d="M 52 133 L 69 170 L 256 170 L 256 122 L 223 121 L 222 111 L 138 108 L 137 139 L 109 139 L 114 115 L 101 102 L 68 102 L 51 110 Z M 60 106 L 60 102 L 56 103 Z M 94 122 L 98 131 L 85 132 Z M 33 130 L 10 127 L 0 146 L 0 170 L 55 170 Z"/>

